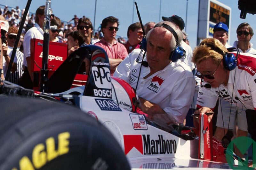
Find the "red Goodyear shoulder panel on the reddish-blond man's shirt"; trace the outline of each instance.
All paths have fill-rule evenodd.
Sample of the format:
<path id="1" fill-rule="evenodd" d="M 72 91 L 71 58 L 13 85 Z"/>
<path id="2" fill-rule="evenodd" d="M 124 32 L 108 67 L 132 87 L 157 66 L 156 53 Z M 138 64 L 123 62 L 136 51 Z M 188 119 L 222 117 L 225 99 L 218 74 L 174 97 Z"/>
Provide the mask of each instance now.
<path id="1" fill-rule="evenodd" d="M 239 54 L 237 60 L 237 66 L 239 69 L 247 71 L 252 76 L 256 73 L 256 58 Z"/>

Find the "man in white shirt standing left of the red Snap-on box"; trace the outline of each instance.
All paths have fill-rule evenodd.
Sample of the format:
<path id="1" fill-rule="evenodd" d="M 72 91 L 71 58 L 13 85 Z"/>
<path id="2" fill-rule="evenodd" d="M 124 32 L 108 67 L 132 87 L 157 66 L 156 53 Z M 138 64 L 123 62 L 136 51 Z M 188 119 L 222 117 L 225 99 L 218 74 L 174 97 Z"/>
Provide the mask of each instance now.
<path id="1" fill-rule="evenodd" d="M 24 88 L 32 89 L 34 76 L 30 70 L 30 40 L 31 39 L 44 39 L 44 8 L 45 6 L 40 6 L 36 10 L 36 25 L 28 30 L 25 34 L 23 46 L 24 46 L 24 73 L 21 77 L 20 85 Z"/>

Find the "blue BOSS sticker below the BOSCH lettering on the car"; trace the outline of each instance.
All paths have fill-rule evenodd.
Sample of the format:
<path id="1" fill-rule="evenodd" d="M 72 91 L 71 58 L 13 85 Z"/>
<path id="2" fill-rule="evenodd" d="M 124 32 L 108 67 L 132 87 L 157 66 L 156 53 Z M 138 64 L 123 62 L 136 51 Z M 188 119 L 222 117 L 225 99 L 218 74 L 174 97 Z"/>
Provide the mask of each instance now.
<path id="1" fill-rule="evenodd" d="M 122 111 L 112 99 L 95 99 L 100 110 L 106 111 Z"/>

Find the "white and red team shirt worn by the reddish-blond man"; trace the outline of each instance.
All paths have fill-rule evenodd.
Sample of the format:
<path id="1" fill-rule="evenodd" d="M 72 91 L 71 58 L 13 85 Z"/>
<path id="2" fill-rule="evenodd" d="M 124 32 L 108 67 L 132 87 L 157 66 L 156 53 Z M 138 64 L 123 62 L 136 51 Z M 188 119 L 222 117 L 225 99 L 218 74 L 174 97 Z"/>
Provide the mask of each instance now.
<path id="1" fill-rule="evenodd" d="M 237 107 L 256 110 L 256 55 L 240 53 L 237 60 L 236 68 L 229 71 L 227 87 L 221 84 L 220 90 L 218 87 L 211 89 L 201 87 L 199 89 L 198 108 L 214 108 L 218 97 L 220 97 Z M 232 93 L 233 98 L 231 98 Z"/>

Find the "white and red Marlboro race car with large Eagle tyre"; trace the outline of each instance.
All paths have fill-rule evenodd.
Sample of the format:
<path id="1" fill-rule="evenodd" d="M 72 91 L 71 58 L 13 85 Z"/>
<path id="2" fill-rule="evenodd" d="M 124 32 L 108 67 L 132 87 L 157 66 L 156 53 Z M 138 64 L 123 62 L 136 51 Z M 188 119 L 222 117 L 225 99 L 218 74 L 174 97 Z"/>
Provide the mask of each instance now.
<path id="1" fill-rule="evenodd" d="M 84 87 L 70 89 L 78 70 L 77 67 L 81 65 L 84 58 L 91 60 L 90 73 L 86 85 Z M 80 139 L 79 135 L 76 133 L 81 131 L 80 126 L 88 124 L 88 122 L 84 122 L 80 125 L 77 122 L 73 125 L 65 125 L 63 122 L 59 123 L 58 121 L 60 120 L 58 119 L 62 117 L 61 114 L 64 112 L 63 121 L 67 123 L 70 119 L 71 123 L 74 119 L 74 112 L 78 112 L 77 108 L 83 111 L 81 113 L 83 116 L 87 113 L 108 129 L 106 132 L 106 130 L 102 130 L 102 126 L 100 126 L 100 130 L 98 127 L 91 127 L 91 125 L 87 125 L 86 127 L 86 131 L 89 133 L 87 135 L 93 136 L 94 138 L 93 143 L 95 142 L 95 146 L 93 149 L 97 149 L 96 152 L 93 152 L 97 155 L 96 160 L 90 160 L 90 156 L 95 155 L 92 151 L 90 152 L 91 155 L 86 155 L 85 160 L 90 160 L 88 161 L 90 162 L 90 167 L 94 166 L 96 164 L 95 162 L 99 161 L 99 158 L 101 158 L 100 165 L 107 167 L 106 169 L 118 169 L 117 165 L 120 166 L 120 164 L 122 164 L 123 169 L 125 169 L 125 167 L 129 169 L 129 165 L 133 169 L 173 169 L 180 167 L 187 167 L 189 169 L 193 167 L 228 169 L 230 168 L 229 165 L 233 165 L 233 162 L 228 162 L 229 164 L 227 164 L 226 156 L 228 155 L 228 157 L 232 159 L 237 158 L 232 151 L 226 151 L 219 140 L 212 137 L 211 123 L 208 123 L 207 115 L 199 115 L 200 130 L 196 131 L 196 129 L 191 127 L 182 126 L 177 123 L 175 118 L 168 117 L 167 115 L 161 115 L 162 118 L 167 118 L 169 121 L 168 124 L 163 124 L 157 121 L 157 119 L 148 118 L 147 114 L 141 112 L 141 114 L 137 113 L 140 103 L 134 89 L 125 81 L 110 76 L 108 56 L 106 52 L 98 46 L 80 47 L 72 53 L 46 82 L 49 93 L 24 89 L 7 81 L 2 82 L 4 83 L 2 86 L 2 92 L 4 94 L 12 96 L 32 96 L 34 98 L 40 97 L 50 101 L 46 103 L 45 101 L 42 102 L 42 99 L 40 101 L 36 99 L 26 99 L 23 101 L 23 98 L 14 97 L 15 100 L 13 100 L 13 98 L 12 100 L 17 103 L 13 104 L 17 105 L 18 108 L 10 108 L 10 105 L 6 102 L 0 102 L 0 107 L 3 108 L 5 113 L 2 115 L 2 123 L 5 120 L 7 120 L 7 122 L 11 121 L 11 118 L 7 116 L 9 111 L 12 113 L 10 114 L 11 117 L 17 112 L 25 112 L 21 114 L 22 116 L 20 116 L 20 113 L 15 115 L 17 118 L 15 118 L 14 122 L 11 121 L 12 123 L 8 125 L 7 129 L 1 128 L 4 129 L 4 131 L 0 133 L 0 141 L 2 141 L 3 144 L 0 150 L 4 150 L 2 159 L 0 157 L 0 167 L 3 167 L 3 169 L 6 167 L 8 167 L 6 169 L 12 169 L 13 167 L 17 169 L 26 169 L 28 167 L 31 167 L 31 169 L 44 169 L 48 167 L 49 169 L 52 168 L 52 164 L 64 169 L 65 167 L 71 167 L 71 165 L 74 166 L 74 164 L 67 166 L 65 163 L 70 160 L 73 161 L 73 159 L 80 160 L 82 154 L 77 152 L 76 148 L 77 154 L 74 154 L 76 157 L 73 158 L 68 154 L 68 151 L 73 151 L 71 146 L 76 144 L 81 145 L 81 141 L 85 140 L 86 137 L 84 137 L 82 132 L 80 133 L 82 139 Z M 64 91 L 60 92 L 60 89 Z M 7 101 L 11 102 L 11 99 L 8 98 Z M 42 106 L 39 104 L 41 102 L 43 103 Z M 63 104 L 59 105 L 59 103 L 75 105 L 76 108 Z M 56 108 L 52 107 L 54 105 L 56 105 Z M 25 108 L 28 111 L 24 111 Z M 33 112 L 36 113 L 32 114 Z M 58 116 L 55 116 L 56 114 Z M 26 115 L 28 115 L 30 120 L 34 121 L 32 121 L 33 124 L 28 123 L 29 119 L 22 121 L 22 123 L 19 122 L 19 117 L 25 116 L 26 118 Z M 38 117 L 36 118 L 34 115 Z M 34 119 L 31 118 L 33 116 Z M 87 118 L 88 117 L 84 117 L 81 118 L 81 120 Z M 79 118 L 76 118 L 75 120 L 77 121 L 78 119 Z M 58 131 L 59 129 L 56 125 L 54 125 L 54 129 L 51 130 L 50 125 L 54 124 L 52 122 L 55 121 L 59 124 L 61 131 Z M 30 128 L 35 128 L 38 124 L 40 128 L 35 128 L 35 130 L 32 128 L 32 132 L 29 133 L 29 135 L 23 135 L 25 131 L 23 130 L 25 126 L 24 123 L 29 124 Z M 16 126 L 19 128 L 16 128 Z M 84 128 L 84 130 L 86 128 Z M 92 129 L 98 129 L 98 131 L 101 132 L 94 132 Z M 8 133 L 5 133 L 5 131 L 8 131 Z M 15 138 L 15 136 L 10 135 L 11 131 L 15 132 L 14 134 L 17 136 L 20 135 L 21 138 L 19 143 L 15 141 L 15 145 L 12 145 L 11 142 L 11 139 Z M 111 138 L 108 131 L 111 132 L 115 139 Z M 47 135 L 47 133 L 49 134 Z M 73 137 L 72 133 L 74 133 L 76 139 L 72 138 L 71 140 L 71 137 Z M 103 141 L 103 143 L 104 140 L 108 140 L 106 134 L 115 142 L 111 141 L 109 143 L 108 141 L 105 144 L 98 143 L 98 140 Z M 8 140 L 4 141 L 8 135 L 11 136 L 11 139 L 8 138 Z M 22 138 L 24 136 L 25 139 Z M 35 140 L 28 140 L 28 137 L 29 139 L 35 138 Z M 90 150 L 89 141 L 85 140 L 83 146 L 84 145 L 86 145 L 86 149 Z M 120 146 L 123 151 L 120 150 Z M 119 155 L 117 156 L 114 152 L 112 154 L 112 149 L 116 149 Z M 100 153 L 99 150 L 101 150 L 102 153 Z M 107 152 L 105 152 L 106 150 Z M 225 155 L 225 153 L 229 154 Z M 107 155 L 106 157 L 110 159 L 110 162 L 113 158 L 112 164 L 110 164 L 108 162 L 109 160 L 106 160 L 106 158 L 101 157 L 101 154 Z M 126 156 L 129 162 L 128 166 L 125 164 L 125 158 L 122 158 L 120 155 Z M 122 158 L 121 160 L 123 161 L 120 161 L 118 158 Z M 62 161 L 65 163 L 60 163 Z M 118 161 L 120 162 L 116 163 Z M 83 167 L 88 167 L 85 165 L 85 162 L 81 163 L 77 161 L 76 163 L 78 165 L 74 167 L 78 169 L 80 164 Z M 242 163 L 244 163 L 243 165 L 246 164 L 246 162 L 243 161 Z M 95 165 L 95 167 L 99 166 Z"/>

